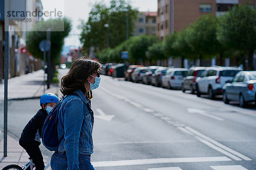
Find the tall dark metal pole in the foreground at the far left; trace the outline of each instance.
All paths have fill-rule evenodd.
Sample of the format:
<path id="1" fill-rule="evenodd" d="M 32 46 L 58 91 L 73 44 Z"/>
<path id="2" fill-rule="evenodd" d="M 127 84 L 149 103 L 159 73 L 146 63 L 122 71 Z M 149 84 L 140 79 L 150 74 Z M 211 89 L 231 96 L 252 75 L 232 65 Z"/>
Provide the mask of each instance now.
<path id="1" fill-rule="evenodd" d="M 9 20 L 6 20 L 4 45 L 4 127 L 3 127 L 3 156 L 7 156 L 7 107 L 8 107 L 8 50 L 9 50 Z"/>

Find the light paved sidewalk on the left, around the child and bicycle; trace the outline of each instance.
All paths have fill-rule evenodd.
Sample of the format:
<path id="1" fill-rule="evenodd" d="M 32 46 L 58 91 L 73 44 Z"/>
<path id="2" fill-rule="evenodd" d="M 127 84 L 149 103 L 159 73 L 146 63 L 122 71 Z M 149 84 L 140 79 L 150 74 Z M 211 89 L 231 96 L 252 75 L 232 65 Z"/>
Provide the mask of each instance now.
<path id="1" fill-rule="evenodd" d="M 8 79 L 8 100 L 22 100 L 40 98 L 44 94 L 44 71 L 39 70 L 33 73 L 25 74 L 20 77 Z M 58 85 L 51 85 L 51 88 L 45 89 L 45 93 L 54 93 L 59 97 L 61 93 Z M 4 102 L 4 82 L 0 84 L 0 103 Z M 3 120 L 3 119 L 1 119 Z M 47 164 L 49 157 L 44 157 L 44 163 Z M 7 157 L 3 157 L 3 130 L 0 129 L 0 170 L 9 164 L 18 164 L 23 166 L 29 161 L 26 151 L 20 147 L 18 140 L 12 134 L 7 134 Z M 49 169 L 49 168 L 48 168 Z"/>

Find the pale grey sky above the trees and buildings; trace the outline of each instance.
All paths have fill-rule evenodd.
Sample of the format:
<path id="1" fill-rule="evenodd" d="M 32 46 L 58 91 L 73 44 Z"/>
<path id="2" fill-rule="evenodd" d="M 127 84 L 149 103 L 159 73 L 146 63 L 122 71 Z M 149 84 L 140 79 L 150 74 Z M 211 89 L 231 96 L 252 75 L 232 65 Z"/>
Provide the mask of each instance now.
<path id="1" fill-rule="evenodd" d="M 77 26 L 80 24 L 79 19 L 87 21 L 89 12 L 96 2 L 103 2 L 109 4 L 110 0 L 41 0 L 45 10 L 54 10 L 56 8 L 59 11 L 63 11 L 64 16 L 72 19 L 73 28 L 69 37 L 65 39 L 65 45 L 79 46 L 79 34 L 80 30 Z M 139 11 L 157 11 L 157 0 L 130 0 L 133 7 L 139 8 Z"/>

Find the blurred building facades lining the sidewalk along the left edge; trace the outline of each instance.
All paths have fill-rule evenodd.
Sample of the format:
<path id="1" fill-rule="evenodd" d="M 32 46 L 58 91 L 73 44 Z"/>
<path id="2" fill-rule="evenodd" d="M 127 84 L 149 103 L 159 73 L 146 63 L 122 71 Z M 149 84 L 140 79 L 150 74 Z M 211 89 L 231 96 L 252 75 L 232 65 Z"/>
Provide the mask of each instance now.
<path id="1" fill-rule="evenodd" d="M 5 0 L 0 0 L 0 81 L 4 78 L 4 57 L 5 57 Z M 22 0 L 25 11 L 42 11 L 41 0 Z M 29 17 L 27 17 L 29 18 Z M 41 60 L 35 59 L 29 53 L 22 53 L 26 48 L 26 33 L 30 31 L 39 17 L 30 17 L 31 22 L 9 21 L 9 55 L 8 73 L 9 78 L 20 76 L 41 69 Z M 22 50 L 22 51 L 21 51 Z"/>

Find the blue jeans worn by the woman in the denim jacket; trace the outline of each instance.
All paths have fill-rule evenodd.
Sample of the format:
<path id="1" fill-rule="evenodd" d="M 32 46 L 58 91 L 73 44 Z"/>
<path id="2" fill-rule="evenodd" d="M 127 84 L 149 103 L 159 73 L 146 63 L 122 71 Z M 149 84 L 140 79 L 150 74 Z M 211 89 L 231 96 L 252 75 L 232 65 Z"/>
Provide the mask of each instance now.
<path id="1" fill-rule="evenodd" d="M 67 170 L 67 155 L 55 152 L 51 157 L 52 170 Z M 90 163 L 90 155 L 79 154 L 79 170 L 95 170 Z"/>

